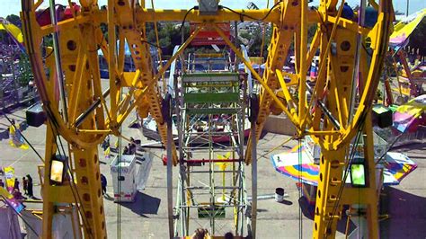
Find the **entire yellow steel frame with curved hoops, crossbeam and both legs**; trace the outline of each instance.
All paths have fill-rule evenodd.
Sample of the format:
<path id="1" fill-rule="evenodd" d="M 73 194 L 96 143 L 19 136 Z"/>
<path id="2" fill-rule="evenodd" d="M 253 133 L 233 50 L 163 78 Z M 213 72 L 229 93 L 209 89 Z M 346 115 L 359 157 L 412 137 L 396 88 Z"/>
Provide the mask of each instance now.
<path id="1" fill-rule="evenodd" d="M 44 109 L 49 115 L 46 158 L 51 158 L 57 153 L 55 137 L 64 137 L 71 148 L 70 160 L 75 161 L 74 166 L 71 165 L 71 173 L 75 175 L 79 194 L 83 195 L 83 201 L 75 197 L 73 199 L 69 187 L 49 185 L 49 170 L 47 170 L 46 185 L 43 187 L 44 238 L 51 237 L 51 219 L 55 213 L 55 205 L 58 203 L 84 206 L 82 218 L 87 222 L 86 229 L 83 230 L 84 235 L 94 235 L 95 238 L 106 236 L 102 197 L 99 193 L 97 145 L 107 134 L 119 136 L 120 125 L 135 108 L 142 117 L 145 117 L 148 112 L 154 116 L 164 145 L 167 140 L 173 140 L 166 135 L 166 124 L 161 111 L 161 95 L 157 90 L 158 79 L 205 25 L 216 29 L 262 85 L 256 134 L 250 136 L 249 141 L 259 139 L 273 103 L 280 111 L 287 114 L 297 128 L 299 137 L 311 135 L 322 147 L 323 155 L 320 164 L 322 180 L 318 185 L 314 237 L 323 238 L 334 235 L 336 225 L 334 218 L 340 217 L 340 210 L 333 214 L 331 205 L 342 208 L 343 204 L 367 204 L 370 235 L 373 238 L 377 237 L 377 198 L 371 194 L 371 191 L 375 190 L 372 183 L 374 179 L 372 144 L 368 144 L 366 149 L 368 175 L 370 175 L 368 189 L 345 189 L 340 198 L 337 198 L 337 190 L 343 184 L 342 172 L 347 166 L 344 164 L 344 158 L 351 139 L 357 131 L 363 129 L 368 142 L 372 140 L 371 126 L 367 122 L 370 116 L 367 112 L 371 108 L 370 102 L 377 89 L 378 77 L 386 53 L 393 11 L 390 0 L 382 0 L 380 5 L 369 1 L 378 9 L 377 23 L 371 29 L 359 26 L 357 22 L 343 19 L 342 7 L 337 9 L 337 0 L 320 1 L 318 10 L 308 9 L 306 0 L 294 0 L 275 1 L 277 5 L 272 10 L 232 12 L 220 9 L 214 15 L 203 15 L 198 10 L 188 12 L 146 9 L 144 0 L 109 0 L 108 10 L 101 10 L 96 0 L 84 0 L 80 2 L 83 7 L 81 13 L 74 18 L 58 22 L 55 26 L 40 27 L 35 13 L 43 1 L 38 0 L 37 3 L 34 3 L 34 0 L 22 1 L 22 22 L 25 46 L 31 59 L 34 78 Z M 342 5 L 343 1 L 340 4 Z M 272 23 L 271 45 L 262 76 L 258 75 L 235 45 L 226 39 L 224 32 L 215 25 L 215 22 L 252 21 L 253 19 L 247 15 L 260 19 L 262 22 Z M 184 18 L 188 22 L 200 22 L 200 27 L 155 75 L 148 44 L 146 44 L 146 22 L 182 21 Z M 107 40 L 102 36 L 101 23 L 108 24 Z M 318 28 L 311 42 L 311 49 L 307 51 L 307 26 L 312 23 L 317 24 Z M 60 100 L 57 93 L 56 75 L 58 73 L 55 72 L 54 55 L 48 55 L 49 57 L 43 59 L 40 48 L 43 37 L 53 32 L 60 33 L 60 58 L 66 79 L 68 109 L 60 109 L 58 104 Z M 370 48 L 373 52 L 369 66 L 366 64 L 367 54 L 365 52 L 359 54 L 360 69 L 354 68 L 357 34 L 361 34 L 364 40 L 366 38 L 371 40 Z M 118 50 L 116 44 L 109 44 L 116 40 L 120 40 Z M 137 67 L 134 73 L 123 71 L 124 40 L 127 40 L 129 44 L 131 56 Z M 297 53 L 297 72 L 289 75 L 293 80 L 288 84 L 284 81 L 281 69 L 288 57 L 291 44 L 294 44 Z M 109 93 L 102 93 L 96 54 L 98 48 L 102 49 L 109 64 Z M 321 52 L 321 66 L 311 100 L 308 102 L 306 71 L 315 56 L 316 49 L 320 49 Z M 45 74 L 45 66 L 49 69 L 49 75 Z M 362 87 L 359 90 L 359 106 L 352 120 L 349 120 L 351 79 L 355 70 L 359 70 L 359 82 Z M 129 87 L 129 91 L 122 98 L 123 87 Z M 282 93 L 285 100 L 280 100 L 277 93 Z M 108 95 L 109 106 L 105 101 Z M 132 99 L 134 99 L 133 102 Z M 319 107 L 320 102 L 324 104 L 323 107 Z M 94 108 L 93 105 L 95 105 Z M 88 110 L 91 107 L 94 110 Z M 329 109 L 328 117 L 324 116 L 324 107 Z M 69 116 L 67 121 L 62 119 L 61 111 L 67 111 Z M 85 115 L 85 118 L 81 124 L 77 125 L 76 122 L 78 119 L 81 120 L 82 115 Z M 338 122 L 337 126 L 333 121 Z M 364 124 L 364 121 L 367 123 Z M 247 164 L 251 163 L 252 158 L 250 146 L 251 144 L 248 143 L 245 154 Z M 177 164 L 177 162 L 173 144 L 173 163 Z M 49 160 L 46 160 L 46 169 L 49 169 L 49 164 Z M 359 199 L 355 195 L 362 195 L 363 198 Z"/>

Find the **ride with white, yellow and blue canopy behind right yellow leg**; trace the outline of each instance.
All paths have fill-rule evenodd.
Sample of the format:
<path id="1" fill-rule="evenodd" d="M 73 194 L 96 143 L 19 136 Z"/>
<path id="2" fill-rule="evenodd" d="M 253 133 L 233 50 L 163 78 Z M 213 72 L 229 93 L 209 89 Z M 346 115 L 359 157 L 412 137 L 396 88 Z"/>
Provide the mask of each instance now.
<path id="1" fill-rule="evenodd" d="M 385 139 L 374 134 L 374 155 L 377 162 L 377 192 L 382 186 L 398 185 L 404 177 L 417 168 L 417 164 L 402 153 L 388 152 Z M 353 145 L 351 144 L 351 147 Z M 362 142 L 355 150 L 357 157 L 364 157 L 362 152 Z M 301 187 L 307 202 L 315 205 L 316 186 L 319 177 L 319 159 L 321 150 L 310 137 L 306 137 L 301 146 L 295 146 L 276 155 L 271 155 L 271 161 L 275 170 L 296 181 L 301 181 Z M 302 160 L 299 161 L 299 156 Z M 300 174 L 300 175 L 299 175 Z M 359 178 L 349 173 L 347 183 L 351 181 L 365 181 L 365 174 L 360 173 Z M 314 186 L 314 187 L 312 187 Z M 311 190 L 312 189 L 312 190 Z"/>

